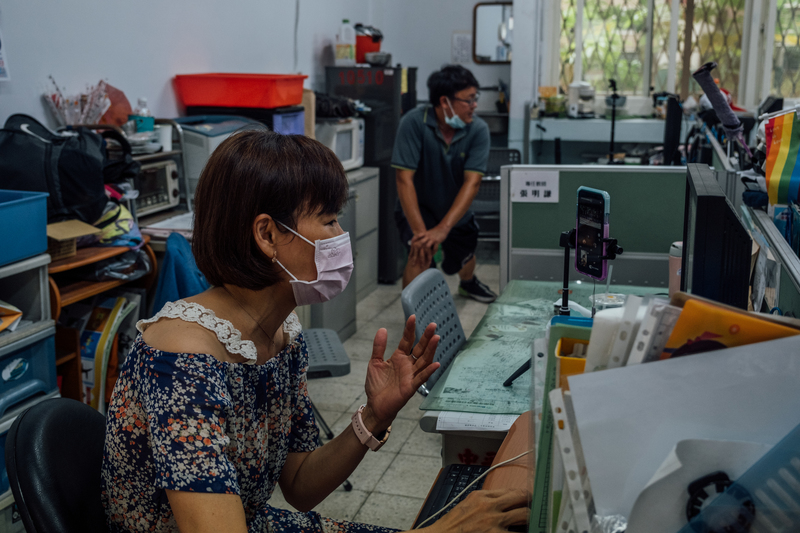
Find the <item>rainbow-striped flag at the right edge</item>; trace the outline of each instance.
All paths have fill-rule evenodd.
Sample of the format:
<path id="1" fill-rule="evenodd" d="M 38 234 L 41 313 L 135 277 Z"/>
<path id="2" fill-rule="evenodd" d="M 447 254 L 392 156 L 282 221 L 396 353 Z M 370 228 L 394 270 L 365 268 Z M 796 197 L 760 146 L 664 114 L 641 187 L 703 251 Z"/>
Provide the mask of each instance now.
<path id="1" fill-rule="evenodd" d="M 798 201 L 800 191 L 800 119 L 797 113 L 773 117 L 765 126 L 767 137 L 767 194 L 769 203 Z"/>

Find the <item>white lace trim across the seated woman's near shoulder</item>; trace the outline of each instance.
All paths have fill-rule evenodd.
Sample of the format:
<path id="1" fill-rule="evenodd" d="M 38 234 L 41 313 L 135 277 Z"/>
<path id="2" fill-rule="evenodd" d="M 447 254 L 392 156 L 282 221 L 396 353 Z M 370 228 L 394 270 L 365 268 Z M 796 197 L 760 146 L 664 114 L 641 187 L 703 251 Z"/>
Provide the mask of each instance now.
<path id="1" fill-rule="evenodd" d="M 204 328 L 216 333 L 217 339 L 225 345 L 225 349 L 228 350 L 229 353 L 244 357 L 246 359 L 245 364 L 252 365 L 256 362 L 255 343 L 253 343 L 253 341 L 242 340 L 241 332 L 233 327 L 230 321 L 217 317 L 211 309 L 206 309 L 200 304 L 185 302 L 183 300 L 167 302 L 155 316 L 137 322 L 136 329 L 138 329 L 140 333 L 144 333 L 144 330 L 146 330 L 150 324 L 157 322 L 161 318 L 180 318 L 186 322 L 200 324 Z"/>

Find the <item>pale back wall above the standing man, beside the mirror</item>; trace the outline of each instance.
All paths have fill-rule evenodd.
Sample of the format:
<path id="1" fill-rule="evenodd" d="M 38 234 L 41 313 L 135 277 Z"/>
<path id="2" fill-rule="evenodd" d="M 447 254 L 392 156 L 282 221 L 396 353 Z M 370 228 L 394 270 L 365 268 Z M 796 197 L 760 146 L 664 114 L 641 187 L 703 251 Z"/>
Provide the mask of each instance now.
<path id="1" fill-rule="evenodd" d="M 450 63 L 453 33 L 472 33 L 472 10 L 477 1 L 371 0 L 371 23 L 385 36 L 381 50 L 390 52 L 395 64 L 418 68 L 419 100 L 428 99 L 428 76 Z M 472 71 L 482 86 L 497 85 L 498 79 L 510 83 L 511 69 L 508 65 L 470 62 L 464 66 Z"/>

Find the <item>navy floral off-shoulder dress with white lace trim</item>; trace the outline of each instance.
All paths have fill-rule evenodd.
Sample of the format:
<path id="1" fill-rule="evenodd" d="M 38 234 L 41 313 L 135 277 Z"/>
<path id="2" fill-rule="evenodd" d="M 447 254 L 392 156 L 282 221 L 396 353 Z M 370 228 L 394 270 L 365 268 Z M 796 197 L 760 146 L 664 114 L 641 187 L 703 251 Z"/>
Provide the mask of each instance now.
<path id="1" fill-rule="evenodd" d="M 178 531 L 166 489 L 239 495 L 251 533 L 395 531 L 268 503 L 287 454 L 319 442 L 294 314 L 284 322 L 289 344 L 262 365 L 253 364 L 252 341 L 195 303 L 167 303 L 136 327 L 144 332 L 162 317 L 201 324 L 247 362 L 163 352 L 138 336 L 108 409 L 102 485 L 112 531 Z"/>

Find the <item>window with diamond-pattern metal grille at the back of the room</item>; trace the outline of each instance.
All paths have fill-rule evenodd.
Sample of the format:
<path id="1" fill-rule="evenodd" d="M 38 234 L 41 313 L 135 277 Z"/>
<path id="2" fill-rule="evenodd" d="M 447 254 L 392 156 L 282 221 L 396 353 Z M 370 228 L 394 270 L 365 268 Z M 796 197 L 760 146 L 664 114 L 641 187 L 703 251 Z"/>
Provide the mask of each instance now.
<path id="1" fill-rule="evenodd" d="M 778 1 L 800 5 L 800 0 Z M 671 0 L 561 0 L 561 88 L 566 91 L 578 70 L 599 92 L 606 92 L 608 80 L 615 79 L 623 94 L 648 95 L 653 87 L 685 98 L 697 92 L 691 73 L 703 63 L 716 61 L 720 84 L 735 93 L 745 0 L 672 4 Z M 576 38 L 579 17 L 581 35 Z M 800 23 L 800 8 L 797 20 Z M 796 37 L 793 42 L 796 47 Z M 800 68 L 793 72 L 794 83 L 800 85 Z"/>

